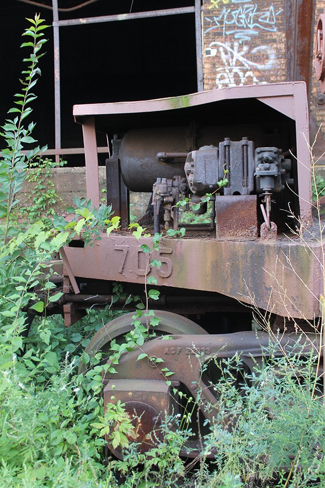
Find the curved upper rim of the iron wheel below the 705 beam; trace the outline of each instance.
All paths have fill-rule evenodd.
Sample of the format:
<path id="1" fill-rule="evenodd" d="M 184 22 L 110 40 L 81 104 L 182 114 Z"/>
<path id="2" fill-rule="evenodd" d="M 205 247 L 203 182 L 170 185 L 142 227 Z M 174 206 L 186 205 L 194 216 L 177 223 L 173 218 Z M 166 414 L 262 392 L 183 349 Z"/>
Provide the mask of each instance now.
<path id="1" fill-rule="evenodd" d="M 97 352 L 101 351 L 104 354 L 109 354 L 110 343 L 113 339 L 120 342 L 123 336 L 132 330 L 132 317 L 134 313 L 121 315 L 116 319 L 113 319 L 108 324 L 104 325 L 96 334 L 93 336 L 91 341 L 85 348 L 85 352 L 90 356 L 94 356 Z M 174 314 L 172 312 L 165 312 L 163 310 L 155 310 L 154 316 L 160 319 L 160 323 L 152 329 L 158 334 L 208 334 L 208 332 L 200 327 L 200 325 L 192 322 L 181 315 Z M 150 317 L 149 317 L 150 318 Z M 141 317 L 141 322 L 146 324 L 147 317 Z M 103 359 L 103 363 L 106 359 Z M 84 374 L 87 368 L 83 362 L 79 364 L 79 374 Z"/>

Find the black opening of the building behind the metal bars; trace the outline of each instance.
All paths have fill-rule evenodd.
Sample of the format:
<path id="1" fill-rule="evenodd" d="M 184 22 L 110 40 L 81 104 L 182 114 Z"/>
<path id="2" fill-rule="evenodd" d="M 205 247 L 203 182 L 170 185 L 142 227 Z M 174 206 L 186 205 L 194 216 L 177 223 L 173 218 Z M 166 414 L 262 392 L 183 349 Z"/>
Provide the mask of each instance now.
<path id="1" fill-rule="evenodd" d="M 51 5 L 50 0 L 41 2 Z M 59 7 L 77 5 L 59 1 Z M 152 9 L 193 6 L 193 0 L 99 0 L 77 12 L 61 13 L 64 20 L 96 17 Z M 18 2 L 2 0 L 0 15 L 9 49 L 3 52 L 7 83 L 0 101 L 2 120 L 13 106 L 12 96 L 19 92 L 22 57 L 21 34 L 25 17 L 35 11 L 51 25 L 52 12 Z M 41 60 L 42 78 L 35 87 L 38 99 L 32 119 L 37 122 L 34 137 L 40 144 L 54 147 L 54 68 L 53 29 L 44 31 L 49 39 L 47 54 Z M 196 30 L 194 14 L 150 17 L 137 20 L 63 26 L 60 36 L 61 146 L 82 147 L 81 127 L 74 122 L 75 104 L 147 100 L 183 95 L 197 91 Z M 102 141 L 103 145 L 106 144 Z M 101 143 L 100 143 L 101 145 Z M 83 165 L 83 157 L 69 155 L 69 166 Z"/>

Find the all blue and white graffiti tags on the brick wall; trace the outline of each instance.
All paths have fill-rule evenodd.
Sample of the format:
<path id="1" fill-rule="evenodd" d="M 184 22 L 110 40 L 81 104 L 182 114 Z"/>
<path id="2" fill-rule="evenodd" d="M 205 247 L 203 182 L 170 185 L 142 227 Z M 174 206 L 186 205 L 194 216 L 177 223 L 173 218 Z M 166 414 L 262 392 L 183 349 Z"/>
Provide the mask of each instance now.
<path id="1" fill-rule="evenodd" d="M 247 0 L 210 3 L 209 8 L 216 12 L 205 17 L 205 37 L 213 41 L 205 55 L 215 57 L 216 86 L 266 83 L 268 72 L 276 69 L 277 54 L 276 46 L 263 40 L 265 35 L 277 32 L 283 9 Z"/>

